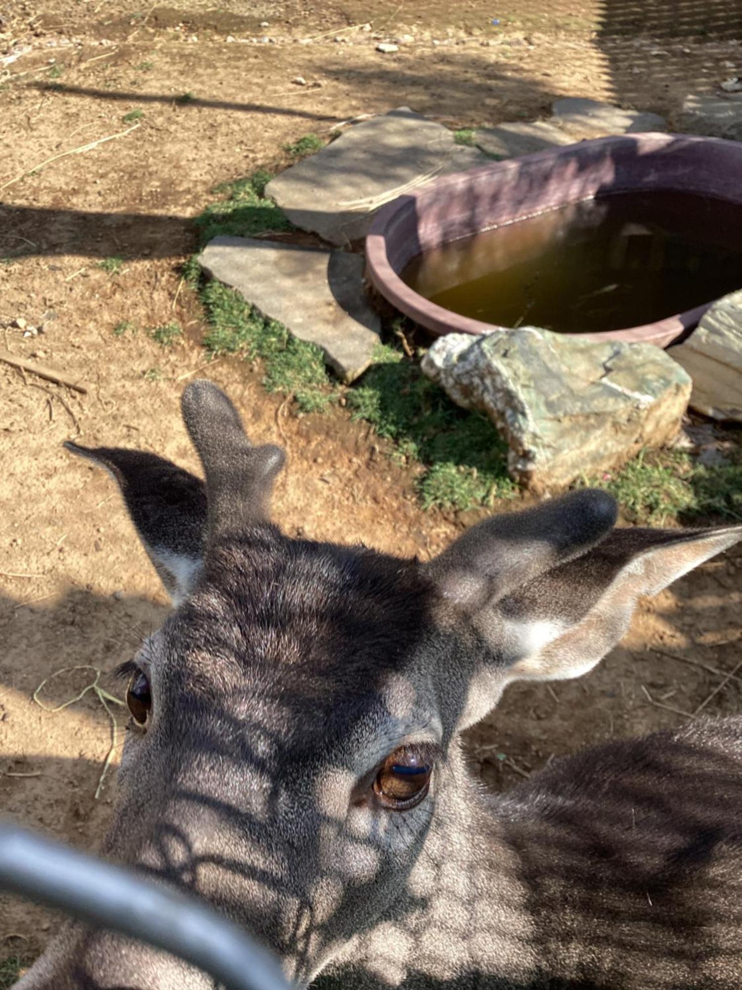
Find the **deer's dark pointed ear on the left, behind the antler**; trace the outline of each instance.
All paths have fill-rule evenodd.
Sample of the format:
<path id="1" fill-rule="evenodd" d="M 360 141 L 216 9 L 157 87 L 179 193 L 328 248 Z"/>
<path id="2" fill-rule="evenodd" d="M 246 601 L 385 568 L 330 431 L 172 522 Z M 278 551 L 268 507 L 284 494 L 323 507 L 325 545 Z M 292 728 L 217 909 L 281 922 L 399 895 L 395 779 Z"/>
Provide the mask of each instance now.
<path id="1" fill-rule="evenodd" d="M 206 486 L 169 460 L 142 450 L 64 444 L 105 467 L 124 496 L 139 539 L 178 605 L 193 590 L 206 540 Z"/>

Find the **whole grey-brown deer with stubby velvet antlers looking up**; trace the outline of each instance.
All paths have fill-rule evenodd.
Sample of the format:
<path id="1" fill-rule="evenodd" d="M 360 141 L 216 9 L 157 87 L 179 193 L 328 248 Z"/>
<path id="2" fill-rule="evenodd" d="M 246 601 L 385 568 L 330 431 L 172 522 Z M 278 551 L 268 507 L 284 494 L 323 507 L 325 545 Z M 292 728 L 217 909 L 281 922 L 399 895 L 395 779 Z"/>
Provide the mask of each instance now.
<path id="1" fill-rule="evenodd" d="M 615 529 L 584 490 L 429 563 L 291 540 L 267 518 L 280 449 L 208 382 L 183 414 L 205 483 L 68 445 L 116 478 L 176 605 L 128 670 L 105 853 L 206 898 L 303 985 L 738 990 L 742 720 L 603 744 L 500 797 L 460 736 L 510 681 L 590 670 L 639 596 L 742 528 Z M 68 924 L 19 987 L 211 985 Z"/>

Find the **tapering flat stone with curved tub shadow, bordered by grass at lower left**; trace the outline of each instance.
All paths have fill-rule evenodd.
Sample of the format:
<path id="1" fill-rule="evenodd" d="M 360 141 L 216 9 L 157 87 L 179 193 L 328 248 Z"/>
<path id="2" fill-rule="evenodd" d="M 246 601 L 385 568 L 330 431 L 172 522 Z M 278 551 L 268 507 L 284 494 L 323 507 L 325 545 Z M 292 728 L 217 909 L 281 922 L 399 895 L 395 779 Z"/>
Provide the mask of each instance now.
<path id="1" fill-rule="evenodd" d="M 199 262 L 263 316 L 322 347 L 343 381 L 353 381 L 371 363 L 381 324 L 363 294 L 360 255 L 219 237 L 204 248 Z"/>

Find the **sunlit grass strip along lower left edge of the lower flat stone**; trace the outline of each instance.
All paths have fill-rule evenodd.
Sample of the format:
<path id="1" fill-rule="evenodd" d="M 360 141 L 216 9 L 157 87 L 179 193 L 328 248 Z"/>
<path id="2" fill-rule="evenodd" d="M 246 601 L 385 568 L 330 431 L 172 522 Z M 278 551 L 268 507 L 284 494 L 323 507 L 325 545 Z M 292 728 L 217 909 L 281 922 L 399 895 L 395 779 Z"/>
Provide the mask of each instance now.
<path id="1" fill-rule="evenodd" d="M 293 337 L 283 324 L 267 320 L 234 289 L 207 282 L 201 290 L 211 330 L 204 338 L 210 354 L 239 354 L 265 362 L 269 392 L 293 395 L 303 412 L 320 412 L 337 398 L 320 347 Z"/>

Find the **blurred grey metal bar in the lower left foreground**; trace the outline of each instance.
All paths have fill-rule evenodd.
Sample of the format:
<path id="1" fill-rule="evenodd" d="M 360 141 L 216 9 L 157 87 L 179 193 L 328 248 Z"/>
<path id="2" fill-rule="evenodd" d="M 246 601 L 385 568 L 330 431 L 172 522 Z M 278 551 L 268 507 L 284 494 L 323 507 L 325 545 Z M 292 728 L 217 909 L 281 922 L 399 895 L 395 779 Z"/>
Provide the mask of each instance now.
<path id="1" fill-rule="evenodd" d="M 232 922 L 145 876 L 0 822 L 0 888 L 193 963 L 229 990 L 290 990 Z"/>

